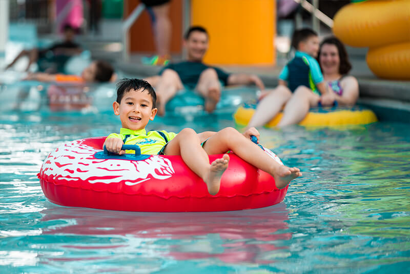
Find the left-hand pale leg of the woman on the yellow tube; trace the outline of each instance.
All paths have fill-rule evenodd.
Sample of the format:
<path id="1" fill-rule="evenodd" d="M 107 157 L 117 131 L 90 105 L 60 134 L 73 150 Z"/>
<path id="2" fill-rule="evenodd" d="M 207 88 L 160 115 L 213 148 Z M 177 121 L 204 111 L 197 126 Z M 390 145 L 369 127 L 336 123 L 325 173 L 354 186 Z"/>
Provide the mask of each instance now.
<path id="1" fill-rule="evenodd" d="M 263 126 L 271 121 L 282 106 L 291 99 L 291 96 L 292 92 L 288 87 L 277 86 L 258 103 L 255 113 L 249 121 L 248 128 Z"/>

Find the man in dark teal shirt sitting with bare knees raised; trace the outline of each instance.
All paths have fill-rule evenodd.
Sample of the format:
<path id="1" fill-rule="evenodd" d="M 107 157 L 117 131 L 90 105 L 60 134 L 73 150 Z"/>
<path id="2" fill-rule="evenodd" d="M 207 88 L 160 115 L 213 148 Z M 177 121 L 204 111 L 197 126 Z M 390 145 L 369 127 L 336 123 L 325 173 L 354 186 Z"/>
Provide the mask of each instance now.
<path id="1" fill-rule="evenodd" d="M 165 105 L 184 87 L 195 89 L 205 99 L 205 110 L 212 112 L 220 99 L 221 83 L 228 85 L 255 84 L 264 89 L 262 81 L 256 75 L 235 73 L 202 63 L 202 58 L 209 47 L 208 32 L 202 27 L 191 27 L 185 35 L 188 60 L 164 67 L 159 75 L 146 80 L 155 86 L 157 93 L 158 114 L 165 114 Z"/>

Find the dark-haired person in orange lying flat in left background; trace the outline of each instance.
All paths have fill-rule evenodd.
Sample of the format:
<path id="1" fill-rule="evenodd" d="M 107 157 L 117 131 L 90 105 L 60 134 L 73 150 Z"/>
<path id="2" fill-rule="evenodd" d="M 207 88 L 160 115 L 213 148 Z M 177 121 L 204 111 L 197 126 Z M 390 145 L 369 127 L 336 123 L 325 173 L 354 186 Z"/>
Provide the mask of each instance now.
<path id="1" fill-rule="evenodd" d="M 104 83 L 112 81 L 114 77 L 113 67 L 105 61 L 94 61 L 82 72 L 81 76 L 67 74 L 30 73 L 25 80 L 40 82 L 70 82 L 70 83 Z"/>

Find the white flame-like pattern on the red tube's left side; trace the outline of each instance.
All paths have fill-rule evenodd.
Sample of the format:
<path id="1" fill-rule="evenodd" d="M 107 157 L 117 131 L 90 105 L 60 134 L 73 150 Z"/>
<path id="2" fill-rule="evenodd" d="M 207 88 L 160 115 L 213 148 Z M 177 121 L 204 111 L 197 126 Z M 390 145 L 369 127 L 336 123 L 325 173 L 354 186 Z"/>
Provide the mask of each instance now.
<path id="1" fill-rule="evenodd" d="M 151 178 L 165 180 L 175 173 L 171 161 L 160 155 L 140 161 L 95 159 L 95 152 L 101 150 L 83 144 L 84 141 L 69 142 L 51 152 L 42 166 L 44 175 L 52 175 L 54 180 L 88 181 L 91 184 L 124 181 L 134 185 Z"/>

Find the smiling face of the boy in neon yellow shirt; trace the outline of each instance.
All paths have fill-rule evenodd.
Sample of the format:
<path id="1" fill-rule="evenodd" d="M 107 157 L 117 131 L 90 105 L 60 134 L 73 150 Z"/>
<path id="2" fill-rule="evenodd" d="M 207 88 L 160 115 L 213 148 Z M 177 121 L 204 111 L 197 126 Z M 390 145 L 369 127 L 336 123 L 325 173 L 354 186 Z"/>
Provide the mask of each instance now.
<path id="1" fill-rule="evenodd" d="M 124 94 L 121 102 L 113 103 L 115 115 L 119 115 L 123 128 L 140 130 L 154 120 L 157 108 L 152 108 L 152 97 L 148 91 L 130 90 Z"/>

